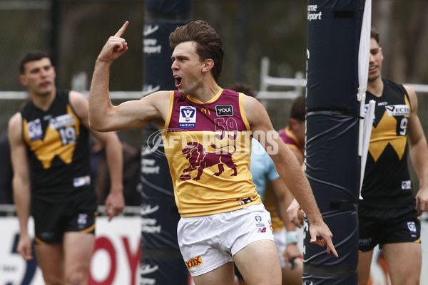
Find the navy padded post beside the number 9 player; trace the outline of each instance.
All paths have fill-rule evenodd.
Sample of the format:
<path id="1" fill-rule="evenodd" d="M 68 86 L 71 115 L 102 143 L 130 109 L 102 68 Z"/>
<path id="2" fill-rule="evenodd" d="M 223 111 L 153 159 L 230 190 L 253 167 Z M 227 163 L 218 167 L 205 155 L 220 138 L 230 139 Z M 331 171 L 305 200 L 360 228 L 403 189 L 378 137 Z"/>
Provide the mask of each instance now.
<path id="1" fill-rule="evenodd" d="M 363 1 L 309 0 L 307 9 L 306 175 L 339 258 L 310 244 L 306 222 L 303 280 L 357 284 L 357 91 Z"/>

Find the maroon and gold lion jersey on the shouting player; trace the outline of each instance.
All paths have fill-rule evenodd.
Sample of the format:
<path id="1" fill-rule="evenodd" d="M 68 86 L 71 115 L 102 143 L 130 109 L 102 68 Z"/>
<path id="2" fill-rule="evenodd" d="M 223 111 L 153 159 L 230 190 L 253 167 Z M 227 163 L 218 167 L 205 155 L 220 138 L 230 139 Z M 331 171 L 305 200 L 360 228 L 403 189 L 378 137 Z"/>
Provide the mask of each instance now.
<path id="1" fill-rule="evenodd" d="M 170 91 L 161 133 L 182 217 L 261 203 L 250 173 L 251 133 L 243 96 L 220 88 L 203 103 Z"/>

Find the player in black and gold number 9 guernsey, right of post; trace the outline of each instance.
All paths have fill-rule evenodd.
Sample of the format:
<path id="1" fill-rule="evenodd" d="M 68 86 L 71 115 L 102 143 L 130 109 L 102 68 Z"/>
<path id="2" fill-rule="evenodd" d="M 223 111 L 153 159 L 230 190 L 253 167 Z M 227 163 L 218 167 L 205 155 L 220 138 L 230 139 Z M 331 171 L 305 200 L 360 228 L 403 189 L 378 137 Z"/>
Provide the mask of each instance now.
<path id="1" fill-rule="evenodd" d="M 417 285 L 422 266 L 419 215 L 428 206 L 427 140 L 416 93 L 382 78 L 382 61 L 379 33 L 372 29 L 365 103 L 374 100 L 374 120 L 358 205 L 358 284 L 367 284 L 373 249 L 379 244 L 392 284 Z M 419 178 L 416 197 L 408 157 Z"/>

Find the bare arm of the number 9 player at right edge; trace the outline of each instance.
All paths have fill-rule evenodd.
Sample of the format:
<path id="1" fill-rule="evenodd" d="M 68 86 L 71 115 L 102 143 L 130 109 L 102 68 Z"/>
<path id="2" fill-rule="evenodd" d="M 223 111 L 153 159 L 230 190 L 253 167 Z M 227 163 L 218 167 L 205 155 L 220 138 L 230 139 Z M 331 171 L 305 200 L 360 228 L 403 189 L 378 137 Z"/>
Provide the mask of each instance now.
<path id="1" fill-rule="evenodd" d="M 409 94 L 412 113 L 410 113 L 409 125 L 409 149 L 414 170 L 419 178 L 419 191 L 416 195 L 416 207 L 419 208 L 419 215 L 428 211 L 428 147 L 427 139 L 424 135 L 421 122 L 417 115 L 418 102 L 417 95 L 413 88 L 404 86 Z"/>

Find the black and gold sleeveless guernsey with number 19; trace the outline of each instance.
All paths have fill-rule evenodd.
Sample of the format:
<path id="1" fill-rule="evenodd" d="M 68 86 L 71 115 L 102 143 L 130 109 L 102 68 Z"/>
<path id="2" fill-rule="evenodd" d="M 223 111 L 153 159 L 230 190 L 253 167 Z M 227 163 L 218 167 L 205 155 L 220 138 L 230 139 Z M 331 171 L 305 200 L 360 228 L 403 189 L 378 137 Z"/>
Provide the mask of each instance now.
<path id="1" fill-rule="evenodd" d="M 32 197 L 55 202 L 76 187 L 91 185 L 88 129 L 71 107 L 68 91 L 57 90 L 49 110 L 29 101 L 20 113 Z"/>

